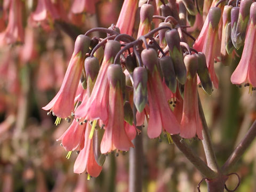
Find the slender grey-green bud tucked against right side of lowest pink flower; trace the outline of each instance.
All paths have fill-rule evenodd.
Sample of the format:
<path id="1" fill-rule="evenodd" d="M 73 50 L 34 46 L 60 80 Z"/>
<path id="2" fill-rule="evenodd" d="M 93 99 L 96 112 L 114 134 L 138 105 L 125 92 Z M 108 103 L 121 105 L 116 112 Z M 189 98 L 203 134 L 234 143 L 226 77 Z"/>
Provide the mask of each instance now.
<path id="1" fill-rule="evenodd" d="M 98 126 L 98 125 L 97 125 Z M 95 129 L 93 133 L 93 154 L 95 161 L 99 166 L 102 166 L 105 162 L 106 156 L 100 153 L 100 143 L 103 137 L 103 129 Z"/>

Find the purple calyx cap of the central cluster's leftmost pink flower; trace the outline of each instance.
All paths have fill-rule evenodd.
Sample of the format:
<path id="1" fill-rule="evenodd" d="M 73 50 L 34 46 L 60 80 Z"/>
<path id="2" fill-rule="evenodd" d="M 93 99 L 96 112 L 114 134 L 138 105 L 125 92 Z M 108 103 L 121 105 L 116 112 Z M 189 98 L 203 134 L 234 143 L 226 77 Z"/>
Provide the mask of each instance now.
<path id="1" fill-rule="evenodd" d="M 85 58 L 85 54 L 89 52 L 89 47 L 90 47 L 91 39 L 88 36 L 85 35 L 78 35 L 76 37 L 76 42 L 75 42 L 75 48 L 74 48 L 74 55 L 79 53 L 81 51 L 81 57 Z"/>

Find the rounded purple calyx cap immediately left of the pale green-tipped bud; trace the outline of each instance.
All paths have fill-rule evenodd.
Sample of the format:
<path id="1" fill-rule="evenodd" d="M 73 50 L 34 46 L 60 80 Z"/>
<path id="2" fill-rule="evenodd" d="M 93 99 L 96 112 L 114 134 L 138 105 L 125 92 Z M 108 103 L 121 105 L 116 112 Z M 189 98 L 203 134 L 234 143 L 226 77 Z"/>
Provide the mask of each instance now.
<path id="1" fill-rule="evenodd" d="M 124 73 L 121 65 L 111 64 L 108 66 L 107 76 L 111 86 L 113 87 L 118 86 L 119 88 L 122 89 L 123 84 L 125 83 L 125 79 L 123 79 L 124 78 L 123 75 Z"/>

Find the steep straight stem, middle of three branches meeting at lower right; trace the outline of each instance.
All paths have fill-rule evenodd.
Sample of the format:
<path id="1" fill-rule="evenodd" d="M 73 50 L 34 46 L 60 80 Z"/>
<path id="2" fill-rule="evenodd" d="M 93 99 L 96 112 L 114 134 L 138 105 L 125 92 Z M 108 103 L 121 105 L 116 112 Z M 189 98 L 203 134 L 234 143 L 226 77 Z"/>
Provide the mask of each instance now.
<path id="1" fill-rule="evenodd" d="M 202 140 L 202 142 L 203 142 L 204 153 L 206 156 L 207 165 L 213 171 L 219 172 L 220 169 L 217 164 L 216 157 L 215 157 L 215 154 L 213 151 L 212 141 L 210 138 L 210 132 L 209 132 L 206 120 L 205 120 L 204 111 L 203 111 L 203 107 L 202 107 L 199 95 L 198 95 L 198 109 L 199 109 L 199 115 L 200 115 L 202 125 L 203 125 L 203 130 L 202 130 L 203 140 Z"/>

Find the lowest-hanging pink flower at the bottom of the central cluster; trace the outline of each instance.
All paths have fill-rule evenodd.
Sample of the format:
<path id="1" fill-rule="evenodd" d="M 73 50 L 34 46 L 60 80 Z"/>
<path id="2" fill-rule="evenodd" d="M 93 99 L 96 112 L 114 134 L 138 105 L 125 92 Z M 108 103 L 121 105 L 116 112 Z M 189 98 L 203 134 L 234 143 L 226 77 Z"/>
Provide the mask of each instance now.
<path id="1" fill-rule="evenodd" d="M 81 127 L 78 127 L 81 128 Z M 98 165 L 95 161 L 93 153 L 93 140 L 90 139 L 89 135 L 91 132 L 91 125 L 87 123 L 85 133 L 84 133 L 84 148 L 80 151 L 76 158 L 74 165 L 74 173 L 83 173 L 85 170 L 92 177 L 98 177 L 102 167 Z"/>

